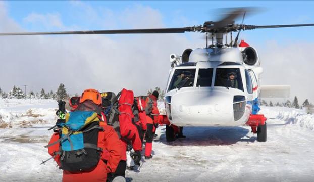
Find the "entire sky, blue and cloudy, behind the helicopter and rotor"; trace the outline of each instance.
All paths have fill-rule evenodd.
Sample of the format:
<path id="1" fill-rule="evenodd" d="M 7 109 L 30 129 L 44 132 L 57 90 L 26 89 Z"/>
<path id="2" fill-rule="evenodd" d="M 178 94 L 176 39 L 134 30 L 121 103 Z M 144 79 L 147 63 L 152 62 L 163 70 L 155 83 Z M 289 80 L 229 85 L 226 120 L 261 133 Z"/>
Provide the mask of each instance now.
<path id="1" fill-rule="evenodd" d="M 258 7 L 244 23 L 314 23 L 313 1 L 1 1 L 0 32 L 171 28 L 203 24 L 221 8 Z M 219 11 L 220 10 L 220 11 Z M 238 20 L 237 23 L 241 23 Z M 291 98 L 314 103 L 310 78 L 314 27 L 241 32 L 255 47 L 261 84 L 290 84 Z M 39 92 L 64 83 L 71 94 L 86 88 L 135 95 L 166 87 L 169 55 L 204 47 L 200 33 L 150 35 L 58 35 L 0 37 L 0 88 Z"/>

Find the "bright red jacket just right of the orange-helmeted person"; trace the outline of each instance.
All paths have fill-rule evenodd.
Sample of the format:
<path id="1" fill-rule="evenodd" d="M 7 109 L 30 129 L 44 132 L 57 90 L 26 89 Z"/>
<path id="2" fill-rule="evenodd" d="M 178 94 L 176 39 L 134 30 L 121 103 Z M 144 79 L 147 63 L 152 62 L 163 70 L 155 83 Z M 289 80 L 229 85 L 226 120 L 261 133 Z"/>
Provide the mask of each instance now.
<path id="1" fill-rule="evenodd" d="M 134 94 L 132 90 L 123 88 L 119 99 L 119 122 L 120 133 L 123 138 L 129 139 L 132 142 L 135 151 L 142 150 L 142 141 L 139 137 L 136 126 L 132 123 L 134 118 L 132 105 L 134 103 Z"/>

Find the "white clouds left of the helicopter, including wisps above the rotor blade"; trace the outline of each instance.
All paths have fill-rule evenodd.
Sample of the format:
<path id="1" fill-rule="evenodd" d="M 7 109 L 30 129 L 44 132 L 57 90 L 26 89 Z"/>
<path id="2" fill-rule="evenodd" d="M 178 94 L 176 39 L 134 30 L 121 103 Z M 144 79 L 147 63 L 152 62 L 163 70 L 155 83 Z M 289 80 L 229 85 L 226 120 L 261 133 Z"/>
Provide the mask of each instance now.
<path id="1" fill-rule="evenodd" d="M 44 23 L 48 17 L 33 14 L 27 20 Z M 163 25 L 160 13 L 149 7 L 125 10 L 115 20 L 122 17 L 124 23 L 135 19 L 135 26 Z M 8 31 L 20 31 L 6 14 L 0 19 L 7 20 L 3 26 L 10 26 Z M 0 52 L 0 86 L 6 91 L 14 84 L 27 84 L 35 92 L 41 87 L 55 90 L 62 82 L 70 93 L 90 87 L 118 92 L 125 87 L 137 95 L 155 86 L 164 88 L 169 55 L 195 47 L 184 35 L 177 34 L 11 36 L 1 37 L 0 44 L 6 45 Z"/>

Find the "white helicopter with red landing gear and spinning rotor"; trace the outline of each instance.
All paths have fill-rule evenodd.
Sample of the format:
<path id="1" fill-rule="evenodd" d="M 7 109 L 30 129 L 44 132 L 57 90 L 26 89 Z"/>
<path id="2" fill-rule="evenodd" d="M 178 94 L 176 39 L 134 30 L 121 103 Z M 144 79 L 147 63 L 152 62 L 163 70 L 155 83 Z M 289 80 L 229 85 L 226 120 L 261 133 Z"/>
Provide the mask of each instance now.
<path id="1" fill-rule="evenodd" d="M 61 34 L 154 34 L 199 32 L 206 35 L 204 48 L 186 49 L 182 56 L 170 55 L 171 69 L 165 89 L 166 140 L 174 141 L 182 126 L 242 126 L 257 133 L 257 141 L 267 141 L 265 116 L 259 114 L 261 97 L 289 97 L 289 85 L 261 86 L 263 73 L 257 50 L 244 40 L 241 31 L 265 28 L 314 26 L 314 24 L 246 25 L 248 8 L 233 8 L 219 21 L 179 28 L 117 29 L 58 32 L 0 33 L 13 35 Z M 243 16 L 242 23 L 235 19 Z M 234 41 L 232 32 L 238 32 Z M 230 34 L 230 42 L 227 35 Z M 224 36 L 226 42 L 223 43 Z M 211 40 L 211 44 L 208 42 Z M 215 40 L 215 41 L 214 41 Z"/>

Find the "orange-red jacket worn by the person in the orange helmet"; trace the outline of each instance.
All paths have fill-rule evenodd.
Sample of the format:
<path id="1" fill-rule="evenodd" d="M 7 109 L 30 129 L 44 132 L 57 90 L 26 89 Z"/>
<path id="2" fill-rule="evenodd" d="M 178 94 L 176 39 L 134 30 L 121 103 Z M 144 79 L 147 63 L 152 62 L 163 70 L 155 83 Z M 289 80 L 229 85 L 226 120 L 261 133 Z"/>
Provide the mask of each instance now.
<path id="1" fill-rule="evenodd" d="M 107 126 L 105 122 L 100 121 L 100 126 L 104 128 L 104 131 L 99 131 L 98 134 L 98 147 L 103 149 L 101 153 L 101 160 L 98 165 L 91 172 L 71 173 L 69 171 L 63 171 L 62 181 L 106 181 L 107 173 L 113 173 L 116 171 L 118 163 L 121 159 L 122 146 L 119 141 L 118 135 L 111 126 Z M 59 134 L 54 133 L 51 136 L 49 144 L 57 141 Z M 55 151 L 59 151 L 59 143 L 48 147 L 48 152 L 51 156 Z M 57 155 L 55 161 L 60 166 L 60 156 Z"/>

